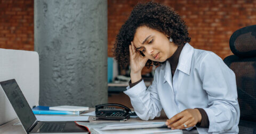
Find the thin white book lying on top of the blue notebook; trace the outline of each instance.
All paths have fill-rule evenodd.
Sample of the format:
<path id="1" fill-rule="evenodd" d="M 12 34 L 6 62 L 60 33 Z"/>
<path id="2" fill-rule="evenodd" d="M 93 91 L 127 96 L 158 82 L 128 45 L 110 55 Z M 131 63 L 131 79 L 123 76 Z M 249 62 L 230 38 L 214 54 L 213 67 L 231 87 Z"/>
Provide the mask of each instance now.
<path id="1" fill-rule="evenodd" d="M 51 106 L 49 110 L 59 110 L 59 111 L 86 111 L 89 110 L 87 106 L 71 106 L 71 105 L 60 105 Z"/>

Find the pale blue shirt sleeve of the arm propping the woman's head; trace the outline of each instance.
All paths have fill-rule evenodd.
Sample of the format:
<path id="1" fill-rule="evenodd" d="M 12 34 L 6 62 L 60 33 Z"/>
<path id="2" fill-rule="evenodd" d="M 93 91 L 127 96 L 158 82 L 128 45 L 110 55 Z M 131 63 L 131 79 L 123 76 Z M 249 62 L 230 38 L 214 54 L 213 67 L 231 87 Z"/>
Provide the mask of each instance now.
<path id="1" fill-rule="evenodd" d="M 161 114 L 162 105 L 156 88 L 156 75 L 152 85 L 146 87 L 142 80 L 138 84 L 126 87 L 124 93 L 130 97 L 132 106 L 138 117 L 142 120 L 153 120 Z"/>

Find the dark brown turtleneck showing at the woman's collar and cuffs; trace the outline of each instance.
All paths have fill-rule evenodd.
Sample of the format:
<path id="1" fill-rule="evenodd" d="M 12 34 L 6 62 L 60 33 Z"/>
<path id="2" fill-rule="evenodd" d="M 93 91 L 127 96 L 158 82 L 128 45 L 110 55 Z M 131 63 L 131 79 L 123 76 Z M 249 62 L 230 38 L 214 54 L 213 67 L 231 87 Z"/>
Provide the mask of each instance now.
<path id="1" fill-rule="evenodd" d="M 171 65 L 171 72 L 172 72 L 172 77 L 175 73 L 175 70 L 178 66 L 178 63 L 179 63 L 179 58 L 180 58 L 180 53 L 181 53 L 181 50 L 183 49 L 184 45 L 181 45 L 177 48 L 177 50 L 173 53 L 173 55 L 168 58 L 167 60 L 170 62 L 170 65 Z M 142 78 L 138 81 L 138 82 L 135 82 L 135 83 L 131 83 L 131 81 L 129 82 L 129 85 L 130 85 L 130 88 L 132 88 L 133 86 L 137 85 L 138 83 L 140 83 L 142 81 Z M 208 118 L 208 115 L 206 114 L 205 110 L 204 109 L 201 109 L 201 108 L 196 108 L 202 115 L 202 120 L 200 123 L 197 123 L 196 124 L 196 127 L 198 128 L 209 128 L 209 118 Z"/>

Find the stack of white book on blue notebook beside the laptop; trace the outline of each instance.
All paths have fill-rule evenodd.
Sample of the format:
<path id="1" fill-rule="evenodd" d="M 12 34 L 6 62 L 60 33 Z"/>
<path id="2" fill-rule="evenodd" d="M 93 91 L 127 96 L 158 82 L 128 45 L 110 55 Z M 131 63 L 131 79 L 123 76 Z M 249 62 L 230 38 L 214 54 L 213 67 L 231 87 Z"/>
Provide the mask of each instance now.
<path id="1" fill-rule="evenodd" d="M 32 109 L 34 114 L 73 114 L 79 115 L 84 111 L 89 110 L 87 106 L 70 106 L 70 105 L 61 105 L 61 106 L 36 106 Z"/>

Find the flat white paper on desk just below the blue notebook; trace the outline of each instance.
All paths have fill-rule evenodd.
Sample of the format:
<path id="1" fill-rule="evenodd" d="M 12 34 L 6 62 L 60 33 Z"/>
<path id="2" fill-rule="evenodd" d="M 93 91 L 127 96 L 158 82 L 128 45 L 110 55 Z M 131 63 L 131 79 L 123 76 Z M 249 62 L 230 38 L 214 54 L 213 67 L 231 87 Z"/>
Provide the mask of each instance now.
<path id="1" fill-rule="evenodd" d="M 88 116 L 50 116 L 36 115 L 38 121 L 87 121 Z"/>

